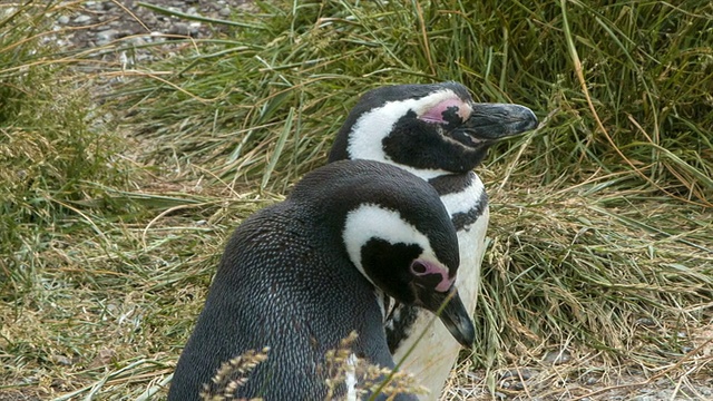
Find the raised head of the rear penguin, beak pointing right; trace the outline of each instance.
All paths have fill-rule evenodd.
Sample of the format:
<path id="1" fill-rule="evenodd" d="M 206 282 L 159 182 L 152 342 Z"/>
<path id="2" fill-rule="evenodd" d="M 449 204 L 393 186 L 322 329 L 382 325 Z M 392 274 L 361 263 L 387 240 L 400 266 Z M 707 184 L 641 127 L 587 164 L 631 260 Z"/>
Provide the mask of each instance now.
<path id="1" fill-rule="evenodd" d="M 379 160 L 428 179 L 471 170 L 495 141 L 536 125 L 527 107 L 475 102 L 457 82 L 382 87 L 352 109 L 330 162 Z"/>

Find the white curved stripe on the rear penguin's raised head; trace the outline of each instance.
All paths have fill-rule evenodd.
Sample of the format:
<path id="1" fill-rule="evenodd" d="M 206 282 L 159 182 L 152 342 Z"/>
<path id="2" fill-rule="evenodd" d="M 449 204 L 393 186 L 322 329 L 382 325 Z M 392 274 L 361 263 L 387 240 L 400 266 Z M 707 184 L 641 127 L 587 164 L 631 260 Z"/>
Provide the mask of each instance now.
<path id="1" fill-rule="evenodd" d="M 346 151 L 350 158 L 389 163 L 423 179 L 448 174 L 448 172 L 442 169 L 417 169 L 393 163 L 389 156 L 384 154 L 382 141 L 383 138 L 389 136 L 397 121 L 409 113 L 409 110 L 414 111 L 417 116 L 421 116 L 438 104 L 453 98 L 459 99 L 452 90 L 445 89 L 420 99 L 389 101 L 379 108 L 364 113 L 359 117 L 349 136 Z"/>

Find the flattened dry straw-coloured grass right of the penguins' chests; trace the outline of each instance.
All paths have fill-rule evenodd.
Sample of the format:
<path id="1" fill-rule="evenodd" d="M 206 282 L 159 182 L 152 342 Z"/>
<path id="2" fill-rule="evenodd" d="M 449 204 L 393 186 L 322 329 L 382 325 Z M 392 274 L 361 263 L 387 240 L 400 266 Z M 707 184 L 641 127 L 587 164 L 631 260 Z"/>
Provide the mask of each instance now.
<path id="1" fill-rule="evenodd" d="M 678 333 L 713 317 L 705 307 L 713 250 L 701 223 L 710 213 L 682 215 L 681 205 L 596 185 L 585 194 L 510 190 L 492 205 L 476 324 L 481 345 L 490 345 L 478 348 L 484 361 L 517 360 L 543 339 L 625 359 L 642 346 L 680 355 Z M 655 344 L 642 322 L 657 329 Z"/>

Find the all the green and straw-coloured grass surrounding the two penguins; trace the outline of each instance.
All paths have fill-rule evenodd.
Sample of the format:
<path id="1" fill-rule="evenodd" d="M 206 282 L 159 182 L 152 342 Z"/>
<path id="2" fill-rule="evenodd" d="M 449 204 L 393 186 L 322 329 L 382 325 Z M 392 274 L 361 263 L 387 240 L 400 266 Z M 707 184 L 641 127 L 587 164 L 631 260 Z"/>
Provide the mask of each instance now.
<path id="1" fill-rule="evenodd" d="M 325 162 L 359 94 L 446 79 L 543 120 L 479 169 L 490 251 L 450 390 L 710 374 L 710 2 L 255 1 L 180 57 L 96 50 L 126 66 L 48 47 L 66 7 L 0 7 L 0 394 L 165 394 L 231 229 Z"/>

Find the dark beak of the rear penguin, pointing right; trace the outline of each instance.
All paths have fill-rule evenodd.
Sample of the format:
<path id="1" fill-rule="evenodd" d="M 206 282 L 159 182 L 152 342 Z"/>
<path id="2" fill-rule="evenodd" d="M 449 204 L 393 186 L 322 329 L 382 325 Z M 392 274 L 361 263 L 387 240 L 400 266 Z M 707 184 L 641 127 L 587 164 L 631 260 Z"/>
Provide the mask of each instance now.
<path id="1" fill-rule="evenodd" d="M 472 104 L 472 114 L 465 126 L 469 135 L 494 140 L 534 129 L 537 117 L 520 105 Z"/>

